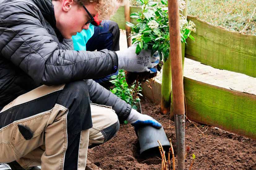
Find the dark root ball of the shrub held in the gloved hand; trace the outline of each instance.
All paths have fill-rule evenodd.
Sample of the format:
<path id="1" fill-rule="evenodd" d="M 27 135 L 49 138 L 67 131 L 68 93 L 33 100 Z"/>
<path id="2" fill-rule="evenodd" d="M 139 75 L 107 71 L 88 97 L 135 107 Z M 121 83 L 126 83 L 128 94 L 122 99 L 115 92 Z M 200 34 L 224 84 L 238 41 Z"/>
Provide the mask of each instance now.
<path id="1" fill-rule="evenodd" d="M 163 62 L 160 61 L 155 68 L 157 68 L 157 71 L 161 71 L 163 66 Z M 136 82 L 144 83 L 148 79 L 152 79 L 155 76 L 157 76 L 157 72 L 155 73 L 149 73 L 149 72 L 126 72 L 126 82 L 129 86 L 133 85 Z"/>

